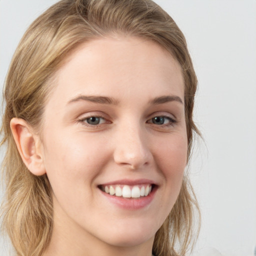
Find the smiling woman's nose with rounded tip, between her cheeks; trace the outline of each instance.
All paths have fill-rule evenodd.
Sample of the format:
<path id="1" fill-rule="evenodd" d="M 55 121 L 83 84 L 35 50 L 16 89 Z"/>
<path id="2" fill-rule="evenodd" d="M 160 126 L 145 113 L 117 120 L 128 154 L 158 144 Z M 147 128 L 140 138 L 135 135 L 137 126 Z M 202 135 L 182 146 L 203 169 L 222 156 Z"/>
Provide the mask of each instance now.
<path id="1" fill-rule="evenodd" d="M 115 138 L 113 157 L 117 164 L 138 169 L 150 163 L 152 154 L 145 131 L 139 125 L 120 127 Z"/>

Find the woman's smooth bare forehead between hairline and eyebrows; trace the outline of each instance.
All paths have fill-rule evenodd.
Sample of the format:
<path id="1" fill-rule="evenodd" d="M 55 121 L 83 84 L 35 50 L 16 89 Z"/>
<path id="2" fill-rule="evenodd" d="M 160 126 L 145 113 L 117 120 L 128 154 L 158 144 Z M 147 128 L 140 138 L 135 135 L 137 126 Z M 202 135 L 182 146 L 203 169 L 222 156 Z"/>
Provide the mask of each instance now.
<path id="1" fill-rule="evenodd" d="M 50 97 L 61 96 L 67 101 L 83 93 L 125 91 L 136 95 L 138 88 L 141 93 L 173 92 L 182 98 L 184 94 L 181 67 L 171 54 L 153 41 L 129 36 L 100 38 L 79 45 L 66 57 L 54 80 Z"/>

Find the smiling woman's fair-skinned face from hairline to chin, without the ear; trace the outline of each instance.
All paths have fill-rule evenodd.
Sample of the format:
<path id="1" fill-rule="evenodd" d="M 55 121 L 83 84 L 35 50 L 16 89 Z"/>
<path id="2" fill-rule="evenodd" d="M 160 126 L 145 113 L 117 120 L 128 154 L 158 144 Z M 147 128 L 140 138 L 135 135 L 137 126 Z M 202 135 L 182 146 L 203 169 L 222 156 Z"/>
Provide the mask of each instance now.
<path id="1" fill-rule="evenodd" d="M 42 131 L 60 236 L 115 246 L 152 241 L 182 183 L 183 95 L 178 62 L 152 41 L 97 39 L 67 57 Z"/>

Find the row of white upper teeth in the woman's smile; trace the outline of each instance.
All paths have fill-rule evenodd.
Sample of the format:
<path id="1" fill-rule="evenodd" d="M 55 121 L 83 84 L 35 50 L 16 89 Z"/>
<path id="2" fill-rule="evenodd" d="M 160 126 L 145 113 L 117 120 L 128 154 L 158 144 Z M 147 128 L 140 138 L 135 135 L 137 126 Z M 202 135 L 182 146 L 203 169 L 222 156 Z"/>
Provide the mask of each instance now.
<path id="1" fill-rule="evenodd" d="M 147 196 L 151 192 L 151 185 L 109 185 L 103 186 L 102 190 L 110 195 L 122 196 L 125 198 L 139 198 Z"/>

